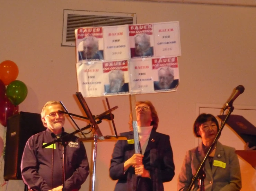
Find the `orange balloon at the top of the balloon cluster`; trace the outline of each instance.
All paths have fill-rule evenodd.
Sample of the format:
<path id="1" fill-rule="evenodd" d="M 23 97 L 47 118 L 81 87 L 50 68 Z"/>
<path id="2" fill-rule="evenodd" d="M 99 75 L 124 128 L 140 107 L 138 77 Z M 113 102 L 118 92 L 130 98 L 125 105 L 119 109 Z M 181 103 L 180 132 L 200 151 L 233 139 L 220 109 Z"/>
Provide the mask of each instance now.
<path id="1" fill-rule="evenodd" d="M 11 60 L 5 60 L 0 64 L 0 80 L 7 86 L 16 80 L 19 74 L 18 66 Z"/>

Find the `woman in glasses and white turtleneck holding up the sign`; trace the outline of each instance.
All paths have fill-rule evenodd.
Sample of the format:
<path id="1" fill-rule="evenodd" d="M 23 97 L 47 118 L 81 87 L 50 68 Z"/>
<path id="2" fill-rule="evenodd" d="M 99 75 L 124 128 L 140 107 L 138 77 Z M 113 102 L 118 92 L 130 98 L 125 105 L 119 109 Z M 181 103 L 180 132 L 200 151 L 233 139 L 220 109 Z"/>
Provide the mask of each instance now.
<path id="1" fill-rule="evenodd" d="M 170 137 L 156 132 L 159 119 L 150 101 L 136 102 L 136 117 L 141 154 L 135 154 L 133 131 L 121 133 L 128 140 L 116 142 L 109 169 L 118 180 L 115 191 L 163 191 L 163 182 L 174 177 Z M 131 115 L 129 124 L 132 130 Z"/>

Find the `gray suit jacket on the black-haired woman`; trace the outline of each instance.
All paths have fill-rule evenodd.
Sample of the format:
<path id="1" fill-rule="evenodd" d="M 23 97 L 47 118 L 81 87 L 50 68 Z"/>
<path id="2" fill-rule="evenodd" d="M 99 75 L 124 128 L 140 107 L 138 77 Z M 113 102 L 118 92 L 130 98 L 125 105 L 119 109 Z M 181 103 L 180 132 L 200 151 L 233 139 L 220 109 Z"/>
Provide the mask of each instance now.
<path id="1" fill-rule="evenodd" d="M 204 159 L 203 143 L 192 150 L 187 151 L 182 170 L 178 177 L 178 190 L 186 191 L 189 187 L 193 175 Z M 241 172 L 235 148 L 222 145 L 217 142 L 216 151 L 213 161 L 221 161 L 226 163 L 226 168 L 210 167 L 209 160 L 205 162 L 205 191 L 239 191 L 242 188 Z M 195 186 L 192 187 L 193 191 L 199 189 L 198 180 L 195 181 Z"/>

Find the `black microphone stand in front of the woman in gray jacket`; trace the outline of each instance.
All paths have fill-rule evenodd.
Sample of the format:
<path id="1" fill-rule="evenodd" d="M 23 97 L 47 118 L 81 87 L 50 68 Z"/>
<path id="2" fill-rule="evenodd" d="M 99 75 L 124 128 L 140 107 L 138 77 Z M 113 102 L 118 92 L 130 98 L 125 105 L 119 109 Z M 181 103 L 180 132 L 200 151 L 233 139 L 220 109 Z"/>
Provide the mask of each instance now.
<path id="1" fill-rule="evenodd" d="M 218 139 L 220 138 L 221 131 L 222 131 L 222 129 L 224 128 L 224 126 L 225 126 L 225 124 L 226 124 L 228 118 L 230 117 L 230 114 L 233 112 L 233 110 L 234 110 L 234 107 L 233 107 L 232 104 L 230 104 L 229 112 L 228 112 L 228 114 L 227 114 L 225 120 L 223 121 L 223 123 L 222 123 L 222 125 L 221 125 L 221 127 L 220 127 L 220 129 L 219 129 L 219 131 L 218 131 L 218 133 L 217 133 L 217 135 L 216 135 L 216 137 L 215 137 L 215 139 L 214 139 L 212 145 L 209 147 L 209 149 L 208 149 L 208 151 L 207 151 L 207 153 L 206 153 L 206 155 L 205 155 L 203 161 L 201 162 L 201 164 L 200 164 L 200 166 L 199 166 L 199 168 L 198 168 L 196 174 L 192 177 L 191 183 L 189 184 L 189 187 L 188 187 L 188 191 L 191 191 L 192 186 L 195 184 L 195 180 L 196 180 L 196 179 L 199 179 L 199 182 L 200 182 L 200 185 L 199 185 L 200 191 L 204 191 L 205 172 L 204 172 L 203 168 L 204 168 L 206 159 L 208 159 L 210 153 L 212 152 L 212 150 L 213 150 L 213 145 L 214 145 L 214 144 L 218 141 Z"/>

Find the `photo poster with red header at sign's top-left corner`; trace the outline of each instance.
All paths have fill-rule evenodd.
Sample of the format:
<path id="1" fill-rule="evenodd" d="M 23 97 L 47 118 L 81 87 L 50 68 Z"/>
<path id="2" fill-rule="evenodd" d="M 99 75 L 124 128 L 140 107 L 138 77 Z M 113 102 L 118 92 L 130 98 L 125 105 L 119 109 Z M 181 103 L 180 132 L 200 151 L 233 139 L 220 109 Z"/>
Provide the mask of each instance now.
<path id="1" fill-rule="evenodd" d="M 104 60 L 103 27 L 75 30 L 77 62 Z"/>

